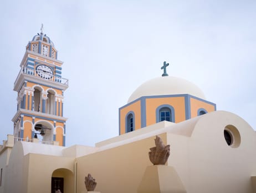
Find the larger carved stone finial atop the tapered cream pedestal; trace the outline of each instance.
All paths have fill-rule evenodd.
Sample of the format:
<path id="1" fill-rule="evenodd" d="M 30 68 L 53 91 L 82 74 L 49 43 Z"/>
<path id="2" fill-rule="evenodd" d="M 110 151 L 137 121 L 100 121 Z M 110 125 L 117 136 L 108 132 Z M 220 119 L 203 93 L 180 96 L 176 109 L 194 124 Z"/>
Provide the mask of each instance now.
<path id="1" fill-rule="evenodd" d="M 165 165 L 170 156 L 170 145 L 165 146 L 159 136 L 156 136 L 155 143 L 156 147 L 150 148 L 150 162 L 154 165 Z"/>

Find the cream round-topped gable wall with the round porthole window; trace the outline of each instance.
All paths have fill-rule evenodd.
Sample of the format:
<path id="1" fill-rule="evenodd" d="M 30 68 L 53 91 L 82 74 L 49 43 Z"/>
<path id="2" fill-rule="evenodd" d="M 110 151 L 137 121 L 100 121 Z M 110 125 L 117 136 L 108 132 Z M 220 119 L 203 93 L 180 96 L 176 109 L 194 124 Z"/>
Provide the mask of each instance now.
<path id="1" fill-rule="evenodd" d="M 191 120 L 193 121 L 193 120 Z M 240 133 L 239 147 L 228 146 L 224 128 L 233 125 Z M 253 192 L 255 131 L 242 118 L 226 111 L 199 117 L 191 137 L 168 133 L 171 145 L 168 165 L 173 166 L 188 192 Z"/>

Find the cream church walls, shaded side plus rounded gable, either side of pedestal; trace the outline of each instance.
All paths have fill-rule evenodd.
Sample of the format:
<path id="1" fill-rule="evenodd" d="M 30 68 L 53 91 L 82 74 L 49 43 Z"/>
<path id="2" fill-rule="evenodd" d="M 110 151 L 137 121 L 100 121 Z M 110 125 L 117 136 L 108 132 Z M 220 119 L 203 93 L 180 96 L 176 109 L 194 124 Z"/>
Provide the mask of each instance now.
<path id="1" fill-rule="evenodd" d="M 177 132 L 181 125 L 182 132 Z M 160 128 L 165 131 L 160 136 L 171 145 L 168 165 L 176 169 L 187 192 L 253 192 L 256 133 L 247 122 L 230 112 L 215 111 L 181 125 Z M 224 138 L 227 125 L 239 131 L 239 147 L 228 146 Z M 78 192 L 85 190 L 84 176 L 88 173 L 98 182 L 96 191 L 136 192 L 145 168 L 152 165 L 148 152 L 155 146 L 155 133 L 150 133 L 151 137 L 78 158 Z"/>

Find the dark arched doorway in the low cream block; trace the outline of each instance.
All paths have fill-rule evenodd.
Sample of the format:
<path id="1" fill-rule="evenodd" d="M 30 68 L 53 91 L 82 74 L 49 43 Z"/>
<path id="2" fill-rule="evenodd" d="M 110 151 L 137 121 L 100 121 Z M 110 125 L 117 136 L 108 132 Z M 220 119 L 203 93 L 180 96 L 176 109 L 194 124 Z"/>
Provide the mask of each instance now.
<path id="1" fill-rule="evenodd" d="M 60 190 L 62 193 L 74 191 L 74 174 L 69 169 L 59 168 L 53 171 L 51 193 Z"/>

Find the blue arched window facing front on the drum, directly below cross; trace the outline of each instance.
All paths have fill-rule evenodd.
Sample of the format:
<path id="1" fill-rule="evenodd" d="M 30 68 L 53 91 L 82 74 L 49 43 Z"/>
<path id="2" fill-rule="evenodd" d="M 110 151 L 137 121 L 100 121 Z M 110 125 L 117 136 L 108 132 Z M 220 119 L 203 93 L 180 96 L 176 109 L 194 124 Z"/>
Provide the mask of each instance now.
<path id="1" fill-rule="evenodd" d="M 156 109 L 156 122 L 175 122 L 174 108 L 171 105 L 161 105 Z"/>

